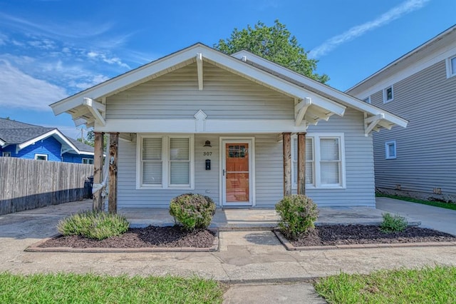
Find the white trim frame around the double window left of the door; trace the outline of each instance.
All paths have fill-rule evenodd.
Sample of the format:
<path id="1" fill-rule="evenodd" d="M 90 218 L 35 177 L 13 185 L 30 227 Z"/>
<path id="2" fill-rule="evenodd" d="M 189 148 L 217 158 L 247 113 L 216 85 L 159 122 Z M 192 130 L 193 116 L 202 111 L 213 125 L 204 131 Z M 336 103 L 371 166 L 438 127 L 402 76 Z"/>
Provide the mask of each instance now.
<path id="1" fill-rule="evenodd" d="M 142 138 L 162 138 L 162 184 L 144 185 L 142 184 Z M 189 138 L 190 139 L 190 185 L 170 185 L 170 138 Z M 175 190 L 194 190 L 195 189 L 195 136 L 189 134 L 138 134 L 136 142 L 136 189 L 175 189 Z"/>

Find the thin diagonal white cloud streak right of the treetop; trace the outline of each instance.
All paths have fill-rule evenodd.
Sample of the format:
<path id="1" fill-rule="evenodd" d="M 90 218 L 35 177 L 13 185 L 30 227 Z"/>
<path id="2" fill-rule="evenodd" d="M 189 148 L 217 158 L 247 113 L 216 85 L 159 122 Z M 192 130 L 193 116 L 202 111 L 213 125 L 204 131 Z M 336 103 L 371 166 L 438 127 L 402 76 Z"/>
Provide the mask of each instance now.
<path id="1" fill-rule="evenodd" d="M 417 9 L 421 9 L 423 6 L 425 6 L 425 4 L 427 4 L 428 1 L 430 0 L 405 1 L 399 6 L 395 6 L 393 9 L 390 9 L 385 14 L 381 15 L 377 19 L 374 19 L 373 21 L 368 21 L 365 24 L 353 26 L 351 29 L 344 32 L 343 34 L 328 39 L 323 44 L 321 44 L 321 46 L 318 46 L 312 51 L 310 51 L 309 58 L 318 58 L 323 55 L 326 55 L 328 54 L 328 52 L 332 51 L 340 44 L 356 39 L 357 37 L 365 34 L 367 31 L 376 29 L 380 26 L 390 23 L 395 19 L 399 19 L 401 16 L 405 14 L 408 14 Z"/>

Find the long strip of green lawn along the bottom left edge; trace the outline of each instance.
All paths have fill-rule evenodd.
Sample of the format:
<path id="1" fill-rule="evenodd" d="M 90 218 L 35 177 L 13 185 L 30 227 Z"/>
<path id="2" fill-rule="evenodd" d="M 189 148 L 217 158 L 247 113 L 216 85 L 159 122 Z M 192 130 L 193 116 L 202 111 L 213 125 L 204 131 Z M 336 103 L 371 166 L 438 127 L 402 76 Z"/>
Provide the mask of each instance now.
<path id="1" fill-rule="evenodd" d="M 223 288 L 201 278 L 73 273 L 0 273 L 0 303 L 222 303 Z"/>

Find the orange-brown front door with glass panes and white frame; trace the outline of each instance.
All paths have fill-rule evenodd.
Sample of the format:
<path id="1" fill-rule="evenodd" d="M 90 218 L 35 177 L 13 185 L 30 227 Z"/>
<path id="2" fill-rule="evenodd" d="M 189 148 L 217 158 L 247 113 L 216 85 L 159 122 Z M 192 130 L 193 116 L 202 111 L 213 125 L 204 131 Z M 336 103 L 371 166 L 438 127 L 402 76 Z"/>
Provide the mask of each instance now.
<path id="1" fill-rule="evenodd" d="M 252 206 L 251 141 L 223 141 L 223 206 Z"/>

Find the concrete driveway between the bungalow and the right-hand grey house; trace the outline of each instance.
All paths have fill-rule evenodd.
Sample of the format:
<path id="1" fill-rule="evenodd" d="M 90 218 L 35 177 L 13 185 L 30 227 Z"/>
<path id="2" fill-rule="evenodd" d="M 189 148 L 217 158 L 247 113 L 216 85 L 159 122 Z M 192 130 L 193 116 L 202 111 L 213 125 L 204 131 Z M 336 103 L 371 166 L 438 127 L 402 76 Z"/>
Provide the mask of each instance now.
<path id="1" fill-rule="evenodd" d="M 397 213 L 412 221 L 421 221 L 423 228 L 432 228 L 456 235 L 456 211 L 427 206 L 420 203 L 399 201 L 393 198 L 377 198 L 377 209 Z"/>

